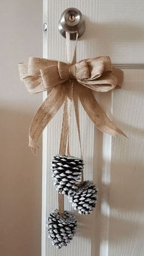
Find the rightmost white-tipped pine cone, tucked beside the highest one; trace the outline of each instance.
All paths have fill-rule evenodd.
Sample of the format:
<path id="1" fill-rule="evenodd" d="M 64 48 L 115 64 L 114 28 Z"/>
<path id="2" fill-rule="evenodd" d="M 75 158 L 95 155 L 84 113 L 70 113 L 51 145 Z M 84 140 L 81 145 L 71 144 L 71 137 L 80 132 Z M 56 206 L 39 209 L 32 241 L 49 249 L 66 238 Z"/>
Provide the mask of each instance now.
<path id="1" fill-rule="evenodd" d="M 92 181 L 84 181 L 84 184 L 78 187 L 69 195 L 69 201 L 74 209 L 79 210 L 79 214 L 90 214 L 96 206 L 98 189 Z"/>

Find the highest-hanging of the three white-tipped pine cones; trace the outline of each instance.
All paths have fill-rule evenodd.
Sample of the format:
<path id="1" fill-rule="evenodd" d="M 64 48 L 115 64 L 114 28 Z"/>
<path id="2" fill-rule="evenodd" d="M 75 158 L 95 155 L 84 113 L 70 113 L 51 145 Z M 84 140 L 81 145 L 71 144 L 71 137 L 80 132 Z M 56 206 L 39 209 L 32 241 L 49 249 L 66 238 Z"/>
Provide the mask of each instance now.
<path id="1" fill-rule="evenodd" d="M 82 159 L 73 156 L 61 156 L 56 154 L 51 162 L 52 178 L 54 186 L 57 186 L 60 194 L 68 195 L 76 184 L 81 181 L 81 171 L 83 169 Z"/>

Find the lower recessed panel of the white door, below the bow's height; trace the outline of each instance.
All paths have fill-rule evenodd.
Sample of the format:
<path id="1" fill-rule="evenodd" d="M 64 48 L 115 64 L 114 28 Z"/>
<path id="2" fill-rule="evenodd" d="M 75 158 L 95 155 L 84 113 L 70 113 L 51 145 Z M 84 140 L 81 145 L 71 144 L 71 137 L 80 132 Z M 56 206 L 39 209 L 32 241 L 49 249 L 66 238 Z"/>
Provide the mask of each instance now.
<path id="1" fill-rule="evenodd" d="M 109 255 L 144 255 L 144 70 L 124 72 L 113 116 L 128 135 L 112 139 Z"/>

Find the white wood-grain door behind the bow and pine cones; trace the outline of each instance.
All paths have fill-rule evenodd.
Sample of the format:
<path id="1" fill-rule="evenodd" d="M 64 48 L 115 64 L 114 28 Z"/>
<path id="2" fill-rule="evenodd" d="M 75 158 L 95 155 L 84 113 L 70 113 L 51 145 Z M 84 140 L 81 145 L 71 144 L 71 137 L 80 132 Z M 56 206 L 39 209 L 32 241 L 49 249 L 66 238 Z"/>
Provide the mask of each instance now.
<path id="1" fill-rule="evenodd" d="M 98 185 L 98 205 L 90 216 L 74 214 L 79 227 L 73 241 L 62 249 L 46 235 L 46 216 L 57 208 L 57 192 L 50 170 L 59 152 L 62 110 L 43 135 L 42 256 L 144 255 L 144 2 L 143 0 L 44 0 L 43 57 L 67 60 L 65 39 L 57 24 L 63 10 L 76 7 L 85 19 L 77 43 L 77 60 L 108 55 L 124 71 L 123 88 L 96 93 L 107 115 L 129 139 L 104 135 L 81 114 L 85 179 Z M 46 94 L 44 94 L 46 97 Z M 76 123 L 71 127 L 76 132 Z M 79 156 L 77 135 L 71 133 L 71 154 Z M 67 198 L 65 209 L 73 211 Z"/>

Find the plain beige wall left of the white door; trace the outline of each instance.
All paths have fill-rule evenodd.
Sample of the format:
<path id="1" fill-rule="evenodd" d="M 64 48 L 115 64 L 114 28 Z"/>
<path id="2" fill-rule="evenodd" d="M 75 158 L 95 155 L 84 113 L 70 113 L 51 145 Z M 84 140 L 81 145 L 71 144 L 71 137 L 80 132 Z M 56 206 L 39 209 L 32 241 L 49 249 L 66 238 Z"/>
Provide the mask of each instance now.
<path id="1" fill-rule="evenodd" d="M 0 256 L 40 256 L 41 151 L 27 135 L 42 96 L 29 95 L 17 64 L 42 56 L 42 1 L 1 1 L 0 31 Z"/>

